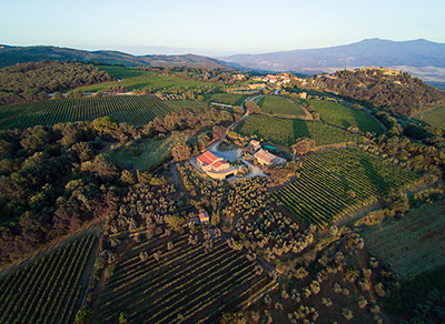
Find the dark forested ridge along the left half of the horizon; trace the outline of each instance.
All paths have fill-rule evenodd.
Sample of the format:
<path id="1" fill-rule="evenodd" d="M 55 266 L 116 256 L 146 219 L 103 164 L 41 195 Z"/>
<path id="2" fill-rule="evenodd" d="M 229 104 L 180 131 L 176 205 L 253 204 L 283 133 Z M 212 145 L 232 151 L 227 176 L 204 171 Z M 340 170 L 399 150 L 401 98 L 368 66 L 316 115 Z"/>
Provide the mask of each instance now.
<path id="1" fill-rule="evenodd" d="M 154 65 L 207 69 L 227 69 L 228 63 L 218 59 L 184 54 L 184 55 L 132 55 L 118 51 L 85 51 L 58 47 L 9 47 L 0 45 L 0 67 L 16 63 L 50 61 L 92 61 L 100 63 L 125 64 L 127 67 Z"/>

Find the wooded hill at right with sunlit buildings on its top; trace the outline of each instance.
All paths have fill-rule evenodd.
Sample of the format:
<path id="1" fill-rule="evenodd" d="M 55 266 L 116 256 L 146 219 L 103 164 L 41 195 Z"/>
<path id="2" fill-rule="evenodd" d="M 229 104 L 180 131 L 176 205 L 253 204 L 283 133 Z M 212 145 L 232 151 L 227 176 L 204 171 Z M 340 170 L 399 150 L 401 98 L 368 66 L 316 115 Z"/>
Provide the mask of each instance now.
<path id="1" fill-rule="evenodd" d="M 408 117 L 445 104 L 445 95 L 438 89 L 406 72 L 386 74 L 383 69 L 343 70 L 332 77 L 319 75 L 314 82 L 320 89 Z"/>

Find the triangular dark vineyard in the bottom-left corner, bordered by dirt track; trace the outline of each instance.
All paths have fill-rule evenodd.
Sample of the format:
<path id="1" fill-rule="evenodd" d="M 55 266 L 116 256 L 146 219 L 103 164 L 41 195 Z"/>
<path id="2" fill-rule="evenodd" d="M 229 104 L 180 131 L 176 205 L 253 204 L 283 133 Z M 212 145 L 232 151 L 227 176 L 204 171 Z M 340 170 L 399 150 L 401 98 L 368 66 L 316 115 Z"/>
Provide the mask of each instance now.
<path id="1" fill-rule="evenodd" d="M 0 280 L 0 323 L 71 323 L 96 236 L 79 239 Z"/>

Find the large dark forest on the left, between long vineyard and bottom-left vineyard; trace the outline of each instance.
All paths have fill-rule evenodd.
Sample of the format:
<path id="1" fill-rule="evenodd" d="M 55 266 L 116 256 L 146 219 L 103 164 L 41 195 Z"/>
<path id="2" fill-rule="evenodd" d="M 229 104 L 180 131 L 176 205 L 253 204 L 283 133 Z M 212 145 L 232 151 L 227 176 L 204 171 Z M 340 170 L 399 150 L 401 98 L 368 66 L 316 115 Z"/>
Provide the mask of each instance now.
<path id="1" fill-rule="evenodd" d="M 116 166 L 105 154 L 105 144 L 209 126 L 217 136 L 217 124 L 233 122 L 227 111 L 185 109 L 164 120 L 156 118 L 144 128 L 107 117 L 0 132 L 0 266 L 116 212 L 136 175 Z M 201 135 L 197 145 L 208 141 L 210 138 Z M 150 183 L 151 175 L 138 173 L 136 179 Z"/>

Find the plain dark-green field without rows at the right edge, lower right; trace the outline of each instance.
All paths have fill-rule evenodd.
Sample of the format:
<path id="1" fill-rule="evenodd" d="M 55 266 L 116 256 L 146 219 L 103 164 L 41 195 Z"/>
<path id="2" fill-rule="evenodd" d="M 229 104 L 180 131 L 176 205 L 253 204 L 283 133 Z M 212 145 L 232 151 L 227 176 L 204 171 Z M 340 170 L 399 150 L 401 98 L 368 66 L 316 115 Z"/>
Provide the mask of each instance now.
<path id="1" fill-rule="evenodd" d="M 434 270 L 445 265 L 445 203 L 423 205 L 402 220 L 367 227 L 362 235 L 405 277 Z"/>

